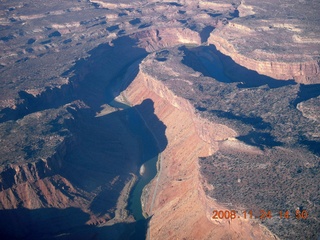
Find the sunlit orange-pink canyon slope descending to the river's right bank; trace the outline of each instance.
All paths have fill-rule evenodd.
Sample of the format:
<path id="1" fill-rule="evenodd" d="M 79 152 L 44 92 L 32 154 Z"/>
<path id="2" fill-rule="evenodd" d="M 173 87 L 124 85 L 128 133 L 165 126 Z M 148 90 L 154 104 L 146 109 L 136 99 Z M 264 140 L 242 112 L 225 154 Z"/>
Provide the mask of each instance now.
<path id="1" fill-rule="evenodd" d="M 142 63 L 143 64 L 143 63 Z M 274 239 L 266 228 L 244 219 L 212 220 L 212 210 L 223 210 L 205 194 L 198 158 L 218 150 L 218 142 L 237 135 L 232 129 L 207 122 L 193 106 L 175 95 L 164 82 L 141 69 L 125 91 L 132 104 L 151 99 L 155 114 L 166 125 L 168 145 L 161 153 L 156 178 L 144 189 L 148 239 Z M 143 114 L 143 113 L 142 113 Z M 146 121 L 157 136 L 157 128 Z"/>

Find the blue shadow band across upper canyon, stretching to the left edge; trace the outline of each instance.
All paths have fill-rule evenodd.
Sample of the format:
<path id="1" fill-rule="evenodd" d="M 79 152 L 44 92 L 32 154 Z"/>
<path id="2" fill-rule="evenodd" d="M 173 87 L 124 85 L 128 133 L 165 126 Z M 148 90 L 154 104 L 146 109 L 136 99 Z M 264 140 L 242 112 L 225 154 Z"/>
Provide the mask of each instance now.
<path id="1" fill-rule="evenodd" d="M 34 96 L 26 91 L 19 92 L 16 107 L 4 108 L 0 111 L 0 123 L 18 120 L 24 116 L 50 108 L 58 108 L 74 100 L 82 100 L 90 107 L 98 109 L 105 102 L 105 91 L 110 84 L 121 81 L 127 68 L 136 62 L 136 66 L 147 52 L 137 47 L 136 40 L 121 37 L 112 45 L 101 44 L 88 52 L 90 57 L 78 60 L 73 67 L 61 77 L 69 77 L 69 83 L 61 87 L 46 88 L 41 94 Z M 117 83 L 117 91 L 122 91 L 131 83 L 135 75 L 132 73 L 123 83 Z M 115 91 L 115 89 L 113 90 Z M 109 98 L 116 96 L 114 92 Z"/>

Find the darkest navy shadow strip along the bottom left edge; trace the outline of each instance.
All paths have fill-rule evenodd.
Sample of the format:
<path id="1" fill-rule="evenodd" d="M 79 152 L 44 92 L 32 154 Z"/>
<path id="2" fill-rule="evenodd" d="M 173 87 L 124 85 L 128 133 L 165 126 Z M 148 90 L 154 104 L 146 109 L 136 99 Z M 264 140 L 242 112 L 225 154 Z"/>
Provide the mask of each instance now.
<path id="1" fill-rule="evenodd" d="M 1 240 L 140 240 L 145 239 L 145 234 L 135 229 L 146 227 L 149 222 L 85 225 L 90 217 L 77 208 L 0 210 L 0 216 Z"/>

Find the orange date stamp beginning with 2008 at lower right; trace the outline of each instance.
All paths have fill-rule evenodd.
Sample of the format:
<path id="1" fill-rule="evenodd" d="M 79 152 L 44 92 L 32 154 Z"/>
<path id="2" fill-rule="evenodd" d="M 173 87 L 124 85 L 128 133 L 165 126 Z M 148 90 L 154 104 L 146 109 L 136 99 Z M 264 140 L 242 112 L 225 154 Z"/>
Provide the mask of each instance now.
<path id="1" fill-rule="evenodd" d="M 236 210 L 213 210 L 212 219 L 236 219 L 236 218 L 244 218 L 244 219 L 271 219 L 272 217 L 279 217 L 280 219 L 307 219 L 308 212 L 307 210 L 295 210 L 295 214 L 291 214 L 289 210 L 278 211 L 277 213 L 272 213 L 270 210 L 260 210 L 260 216 L 254 216 L 252 210 L 238 212 Z"/>

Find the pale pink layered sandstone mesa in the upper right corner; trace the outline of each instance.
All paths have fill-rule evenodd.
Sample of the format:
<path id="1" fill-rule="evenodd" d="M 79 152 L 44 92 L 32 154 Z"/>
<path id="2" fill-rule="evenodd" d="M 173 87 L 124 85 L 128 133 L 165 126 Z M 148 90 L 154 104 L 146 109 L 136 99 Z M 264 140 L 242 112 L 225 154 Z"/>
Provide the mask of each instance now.
<path id="1" fill-rule="evenodd" d="M 277 3 L 242 1 L 240 18 L 211 33 L 208 42 L 261 74 L 303 84 L 319 83 L 318 1 L 282 1 L 275 10 L 270 4 Z M 300 19 L 301 15 L 312 20 Z"/>

